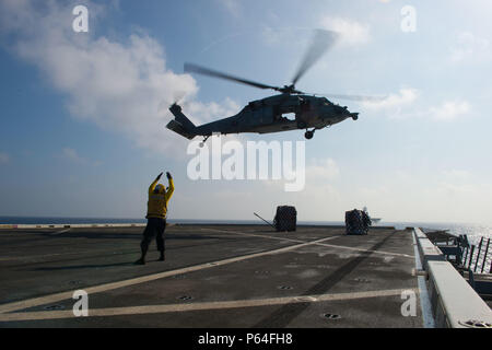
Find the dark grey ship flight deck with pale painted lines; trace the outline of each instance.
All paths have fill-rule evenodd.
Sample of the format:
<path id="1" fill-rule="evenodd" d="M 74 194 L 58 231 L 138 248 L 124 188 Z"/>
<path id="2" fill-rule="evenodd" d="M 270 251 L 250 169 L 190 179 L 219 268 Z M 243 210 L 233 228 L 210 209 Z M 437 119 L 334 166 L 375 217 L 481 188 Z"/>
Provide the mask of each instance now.
<path id="1" fill-rule="evenodd" d="M 0 231 L 0 327 L 423 325 L 409 230 L 173 225 L 166 261 L 153 242 L 148 264 L 134 266 L 142 231 Z M 89 317 L 72 314 L 79 289 Z M 403 290 L 417 292 L 415 316 L 401 315 Z"/>

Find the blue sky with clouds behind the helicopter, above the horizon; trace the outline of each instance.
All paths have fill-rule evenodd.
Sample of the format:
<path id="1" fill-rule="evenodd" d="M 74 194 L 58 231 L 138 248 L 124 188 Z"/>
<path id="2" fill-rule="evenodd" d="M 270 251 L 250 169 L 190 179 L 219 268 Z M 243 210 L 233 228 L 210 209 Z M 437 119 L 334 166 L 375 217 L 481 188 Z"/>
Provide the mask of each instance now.
<path id="1" fill-rule="evenodd" d="M 89 33 L 71 10 L 89 9 Z M 415 32 L 401 9 L 415 9 Z M 174 219 L 301 220 L 367 206 L 387 221 L 490 222 L 492 24 L 489 1 L 2 1 L 0 215 L 141 218 L 161 171 Z M 297 88 L 385 95 L 306 142 L 306 187 L 188 179 L 187 141 L 166 106 L 204 122 L 268 92 L 183 73 L 185 61 L 281 85 L 313 30 L 339 43 Z M 336 101 L 338 102 L 338 101 Z M 303 132 L 237 140 L 304 140 Z M 227 140 L 225 138 L 224 140 Z"/>

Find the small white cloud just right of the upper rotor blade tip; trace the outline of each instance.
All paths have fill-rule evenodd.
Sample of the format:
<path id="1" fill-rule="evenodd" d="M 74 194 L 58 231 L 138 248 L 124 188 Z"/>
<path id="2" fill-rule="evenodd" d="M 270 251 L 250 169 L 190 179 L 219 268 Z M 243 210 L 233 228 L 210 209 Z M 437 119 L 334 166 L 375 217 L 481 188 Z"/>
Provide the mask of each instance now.
<path id="1" fill-rule="evenodd" d="M 371 40 L 370 27 L 354 20 L 325 15 L 319 24 L 325 30 L 339 33 L 341 44 L 360 45 Z"/>

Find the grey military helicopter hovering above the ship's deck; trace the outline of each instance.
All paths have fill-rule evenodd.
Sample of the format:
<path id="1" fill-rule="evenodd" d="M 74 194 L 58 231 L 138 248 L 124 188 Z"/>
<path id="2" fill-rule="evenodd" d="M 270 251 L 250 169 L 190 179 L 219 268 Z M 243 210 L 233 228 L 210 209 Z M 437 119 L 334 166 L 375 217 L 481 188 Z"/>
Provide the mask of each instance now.
<path id="1" fill-rule="evenodd" d="M 335 104 L 326 96 L 354 101 L 377 100 L 378 97 L 333 94 L 317 96 L 316 94 L 307 94 L 295 89 L 295 84 L 301 77 L 332 46 L 337 35 L 336 32 L 331 31 L 316 31 L 300 68 L 292 79 L 292 83 L 283 88 L 242 79 L 194 63 L 185 63 L 185 72 L 195 72 L 263 90 L 273 90 L 280 94 L 251 101 L 238 114 L 201 126 L 192 124 L 185 116 L 181 107 L 177 103 L 174 103 L 169 107 L 169 110 L 175 118 L 166 125 L 166 128 L 189 140 L 197 136 L 202 136 L 203 141 L 200 143 L 200 147 L 203 147 L 208 138 L 218 133 L 269 133 L 302 129 L 306 130 L 304 137 L 312 139 L 316 130 L 330 127 L 348 118 L 356 120 L 359 113 L 351 113 L 347 106 Z M 295 117 L 293 118 L 292 115 Z"/>

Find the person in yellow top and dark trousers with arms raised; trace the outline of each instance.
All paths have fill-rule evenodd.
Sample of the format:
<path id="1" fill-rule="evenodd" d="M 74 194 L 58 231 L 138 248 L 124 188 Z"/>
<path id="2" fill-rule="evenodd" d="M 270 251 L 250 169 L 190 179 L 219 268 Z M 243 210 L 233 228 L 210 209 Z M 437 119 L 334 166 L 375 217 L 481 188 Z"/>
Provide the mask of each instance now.
<path id="1" fill-rule="evenodd" d="M 160 261 L 165 260 L 164 250 L 164 231 L 166 229 L 166 214 L 167 205 L 169 202 L 171 196 L 174 192 L 174 182 L 169 173 L 166 173 L 167 179 L 169 182 L 169 187 L 167 190 L 164 185 L 157 184 L 161 179 L 163 173 L 154 179 L 154 182 L 149 187 L 149 201 L 147 209 L 147 228 L 143 231 L 143 240 L 140 243 L 140 248 L 142 250 L 142 256 L 134 264 L 144 265 L 145 255 L 149 249 L 149 244 L 154 236 L 156 236 L 157 249 L 161 253 L 159 258 Z"/>

